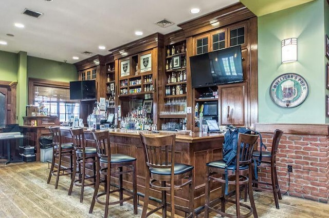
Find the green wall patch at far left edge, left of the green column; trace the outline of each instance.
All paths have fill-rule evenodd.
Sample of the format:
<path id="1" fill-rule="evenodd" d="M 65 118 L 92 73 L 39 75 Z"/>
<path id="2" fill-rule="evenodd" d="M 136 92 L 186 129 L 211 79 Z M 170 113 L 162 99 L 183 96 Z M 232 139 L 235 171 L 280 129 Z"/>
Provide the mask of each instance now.
<path id="1" fill-rule="evenodd" d="M 0 75 L 2 81 L 17 81 L 17 54 L 0 51 Z"/>

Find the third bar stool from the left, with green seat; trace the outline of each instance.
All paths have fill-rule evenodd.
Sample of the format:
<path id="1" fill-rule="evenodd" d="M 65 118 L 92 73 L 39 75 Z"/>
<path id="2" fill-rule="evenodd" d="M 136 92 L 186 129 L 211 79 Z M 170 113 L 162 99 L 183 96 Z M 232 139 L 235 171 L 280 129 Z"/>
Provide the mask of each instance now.
<path id="1" fill-rule="evenodd" d="M 108 214 L 108 205 L 120 204 L 123 205 L 124 201 L 133 199 L 134 213 L 137 214 L 137 176 L 136 176 L 136 158 L 125 154 L 111 154 L 111 143 L 109 141 L 108 131 L 93 132 L 94 140 L 97 148 L 97 176 L 95 192 L 90 205 L 89 213 L 93 212 L 95 202 L 105 205 L 104 217 Z M 123 167 L 125 170 L 123 170 Z M 119 168 L 119 171 L 115 171 Z M 114 169 L 114 170 L 112 170 Z M 122 187 L 122 175 L 132 173 L 132 186 L 133 190 Z M 104 180 L 100 176 L 105 177 Z M 111 176 L 119 175 L 119 188 L 110 191 Z M 99 184 L 105 183 L 105 191 L 98 193 Z M 130 194 L 123 199 L 123 191 Z M 119 201 L 109 202 L 109 194 L 119 192 Z M 100 196 L 106 195 L 106 201 L 101 201 Z"/>

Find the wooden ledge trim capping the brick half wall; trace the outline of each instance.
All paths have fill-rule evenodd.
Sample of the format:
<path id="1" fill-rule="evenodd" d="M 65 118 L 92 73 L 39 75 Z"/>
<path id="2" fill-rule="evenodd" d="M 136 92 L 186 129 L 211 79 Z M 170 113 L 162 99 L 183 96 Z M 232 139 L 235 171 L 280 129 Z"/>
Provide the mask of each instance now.
<path id="1" fill-rule="evenodd" d="M 258 132 L 273 133 L 275 129 L 280 129 L 285 134 L 329 135 L 329 124 L 255 123 L 255 130 Z"/>

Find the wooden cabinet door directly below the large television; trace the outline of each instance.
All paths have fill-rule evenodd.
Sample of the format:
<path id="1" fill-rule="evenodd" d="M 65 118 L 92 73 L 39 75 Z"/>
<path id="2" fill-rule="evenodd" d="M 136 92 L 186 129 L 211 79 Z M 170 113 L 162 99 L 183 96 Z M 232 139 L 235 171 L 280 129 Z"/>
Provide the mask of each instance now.
<path id="1" fill-rule="evenodd" d="M 247 116 L 247 84 L 218 86 L 221 125 L 245 126 Z"/>

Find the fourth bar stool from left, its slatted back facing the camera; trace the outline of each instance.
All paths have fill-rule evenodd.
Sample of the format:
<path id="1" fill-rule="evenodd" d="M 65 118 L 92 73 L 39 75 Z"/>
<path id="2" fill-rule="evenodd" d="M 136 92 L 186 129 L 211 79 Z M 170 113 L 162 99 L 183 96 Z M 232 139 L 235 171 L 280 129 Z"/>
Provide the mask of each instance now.
<path id="1" fill-rule="evenodd" d="M 162 209 L 162 217 L 167 217 L 167 191 L 171 195 L 171 217 L 175 216 L 175 207 L 185 211 L 186 217 L 194 217 L 194 183 L 193 166 L 175 163 L 176 135 L 144 135 L 140 133 L 143 144 L 145 164 L 147 168 L 145 179 L 145 196 L 141 217 Z M 171 154 L 170 154 L 171 151 Z M 184 179 L 182 181 L 182 179 Z M 161 185 L 159 185 L 161 184 Z M 175 205 L 175 190 L 189 186 L 189 207 Z M 161 191 L 161 205 L 147 213 L 150 188 Z"/>

